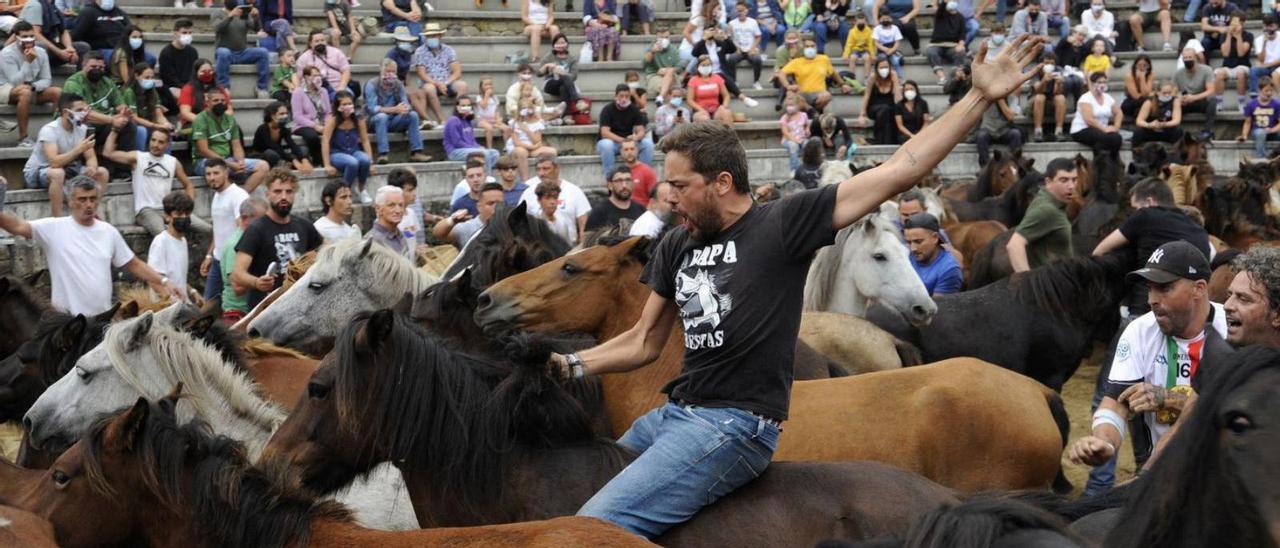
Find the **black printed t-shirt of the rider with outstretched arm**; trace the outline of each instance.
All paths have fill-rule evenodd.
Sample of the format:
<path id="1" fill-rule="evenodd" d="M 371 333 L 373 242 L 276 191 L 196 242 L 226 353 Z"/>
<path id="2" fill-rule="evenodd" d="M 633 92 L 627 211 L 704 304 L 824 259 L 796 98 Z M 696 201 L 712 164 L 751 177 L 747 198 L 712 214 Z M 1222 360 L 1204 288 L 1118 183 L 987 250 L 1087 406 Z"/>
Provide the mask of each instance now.
<path id="1" fill-rule="evenodd" d="M 836 184 L 753 206 L 713 239 L 673 228 L 641 282 L 678 309 L 685 366 L 663 392 L 785 420 L 804 283 L 836 237 Z"/>

